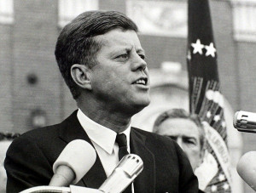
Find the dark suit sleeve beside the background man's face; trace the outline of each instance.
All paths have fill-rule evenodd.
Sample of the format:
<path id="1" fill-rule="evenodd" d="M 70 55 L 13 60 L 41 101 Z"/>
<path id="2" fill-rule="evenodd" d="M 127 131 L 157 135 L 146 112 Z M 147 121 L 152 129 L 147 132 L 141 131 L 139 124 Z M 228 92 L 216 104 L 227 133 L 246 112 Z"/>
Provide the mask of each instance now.
<path id="1" fill-rule="evenodd" d="M 179 187 L 178 192 L 195 193 L 198 192 L 198 179 L 193 173 L 189 158 L 185 155 L 183 150 L 176 144 L 177 157 L 179 162 Z"/>

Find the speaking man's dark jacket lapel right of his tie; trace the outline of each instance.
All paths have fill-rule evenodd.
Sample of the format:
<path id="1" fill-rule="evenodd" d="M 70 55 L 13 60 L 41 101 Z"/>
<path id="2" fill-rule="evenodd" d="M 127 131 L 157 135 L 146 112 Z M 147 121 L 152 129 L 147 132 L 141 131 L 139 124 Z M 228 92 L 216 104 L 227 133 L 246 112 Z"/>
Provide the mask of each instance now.
<path id="1" fill-rule="evenodd" d="M 154 192 L 155 168 L 154 155 L 145 146 L 146 136 L 131 128 L 131 153 L 143 160 L 143 172 L 134 181 L 135 192 Z"/>

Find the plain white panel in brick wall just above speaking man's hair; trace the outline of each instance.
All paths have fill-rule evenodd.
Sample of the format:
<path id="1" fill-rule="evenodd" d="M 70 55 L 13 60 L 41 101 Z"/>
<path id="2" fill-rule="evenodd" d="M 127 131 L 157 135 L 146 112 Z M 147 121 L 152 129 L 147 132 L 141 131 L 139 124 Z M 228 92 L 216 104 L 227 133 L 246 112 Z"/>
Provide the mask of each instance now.
<path id="1" fill-rule="evenodd" d="M 58 24 L 63 27 L 84 11 L 96 9 L 98 9 L 98 0 L 59 0 Z"/>

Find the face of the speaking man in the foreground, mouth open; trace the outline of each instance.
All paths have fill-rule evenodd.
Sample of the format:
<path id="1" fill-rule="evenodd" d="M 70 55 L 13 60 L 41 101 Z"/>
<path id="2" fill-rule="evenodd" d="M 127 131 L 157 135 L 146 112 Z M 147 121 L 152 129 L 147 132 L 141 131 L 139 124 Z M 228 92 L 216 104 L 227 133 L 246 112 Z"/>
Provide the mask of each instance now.
<path id="1" fill-rule="evenodd" d="M 103 43 L 91 68 L 96 100 L 113 111 L 141 111 L 150 102 L 149 80 L 137 33 L 115 29 L 96 38 Z"/>

